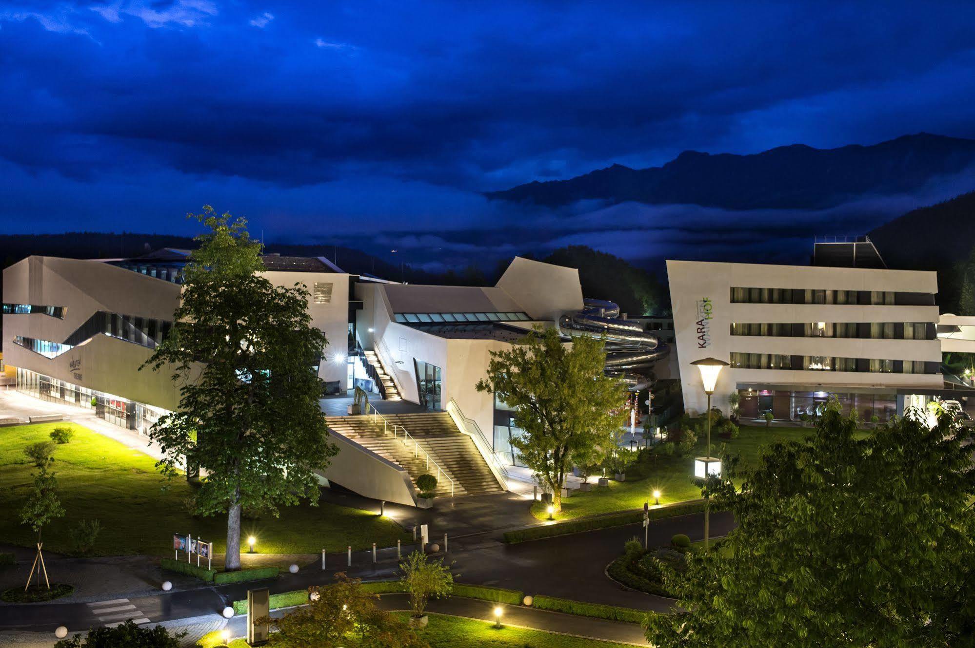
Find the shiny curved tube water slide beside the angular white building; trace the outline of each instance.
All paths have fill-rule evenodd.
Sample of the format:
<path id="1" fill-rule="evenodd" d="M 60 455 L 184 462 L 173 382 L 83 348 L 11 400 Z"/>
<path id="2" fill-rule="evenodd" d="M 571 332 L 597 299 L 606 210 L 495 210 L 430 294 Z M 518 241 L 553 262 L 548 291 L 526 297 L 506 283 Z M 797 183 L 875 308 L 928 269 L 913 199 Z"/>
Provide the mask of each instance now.
<path id="1" fill-rule="evenodd" d="M 653 365 L 670 352 L 666 344 L 643 326 L 619 317 L 619 306 L 602 299 L 585 299 L 585 308 L 564 315 L 559 325 L 566 335 L 606 336 L 606 375 L 623 380 L 631 391 L 649 387 Z"/>

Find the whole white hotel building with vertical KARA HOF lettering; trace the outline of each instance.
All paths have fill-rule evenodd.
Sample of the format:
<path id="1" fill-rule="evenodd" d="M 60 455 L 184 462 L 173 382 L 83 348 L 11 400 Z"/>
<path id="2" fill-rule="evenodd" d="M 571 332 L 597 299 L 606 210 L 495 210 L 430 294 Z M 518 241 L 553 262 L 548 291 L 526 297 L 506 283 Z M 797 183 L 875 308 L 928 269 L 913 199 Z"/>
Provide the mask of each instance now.
<path id="1" fill-rule="evenodd" d="M 737 393 L 743 418 L 799 420 L 836 396 L 884 421 L 975 394 L 941 371 L 943 350 L 975 352 L 961 333 L 975 318 L 940 315 L 937 275 L 884 268 L 869 240 L 819 243 L 809 266 L 668 261 L 667 274 L 688 412 L 707 408 L 690 362 L 709 357 L 729 363 L 713 406 Z"/>

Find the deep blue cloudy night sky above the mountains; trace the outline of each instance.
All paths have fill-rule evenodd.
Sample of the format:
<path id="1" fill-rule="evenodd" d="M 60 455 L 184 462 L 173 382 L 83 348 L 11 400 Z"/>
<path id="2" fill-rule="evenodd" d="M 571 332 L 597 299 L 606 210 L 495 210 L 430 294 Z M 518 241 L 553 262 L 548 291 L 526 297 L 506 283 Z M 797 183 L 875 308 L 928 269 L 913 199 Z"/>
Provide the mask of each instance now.
<path id="1" fill-rule="evenodd" d="M 480 192 L 684 149 L 975 136 L 973 25 L 972 2 L 0 1 L 0 222 L 188 233 L 210 203 L 267 240 L 368 232 L 431 268 L 669 254 L 691 244 L 654 223 L 720 214 Z"/>

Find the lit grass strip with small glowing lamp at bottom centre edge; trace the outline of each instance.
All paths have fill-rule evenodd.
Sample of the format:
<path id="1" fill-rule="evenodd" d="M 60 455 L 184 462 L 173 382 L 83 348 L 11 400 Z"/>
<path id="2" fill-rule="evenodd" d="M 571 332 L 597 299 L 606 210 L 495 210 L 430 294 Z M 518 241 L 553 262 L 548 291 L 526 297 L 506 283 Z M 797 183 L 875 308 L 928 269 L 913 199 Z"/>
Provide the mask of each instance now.
<path id="1" fill-rule="evenodd" d="M 408 613 L 397 613 L 403 623 Z M 545 630 L 514 628 L 504 624 L 494 628 L 493 619 L 476 621 L 443 614 L 430 614 L 425 629 L 416 634 L 430 644 L 430 648 L 632 648 L 630 644 L 601 641 Z"/>

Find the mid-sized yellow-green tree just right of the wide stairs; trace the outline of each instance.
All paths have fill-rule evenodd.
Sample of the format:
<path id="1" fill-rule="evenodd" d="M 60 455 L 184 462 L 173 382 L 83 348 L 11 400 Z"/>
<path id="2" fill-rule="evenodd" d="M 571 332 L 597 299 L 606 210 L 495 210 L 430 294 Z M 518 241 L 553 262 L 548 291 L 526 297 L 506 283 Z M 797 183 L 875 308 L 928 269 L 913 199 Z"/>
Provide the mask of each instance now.
<path id="1" fill-rule="evenodd" d="M 594 448 L 604 456 L 626 421 L 622 383 L 604 374 L 602 340 L 576 337 L 569 348 L 555 328 L 536 327 L 512 349 L 490 355 L 487 379 L 478 381 L 477 390 L 515 408 L 515 425 L 525 435 L 511 444 L 560 511 L 573 457 L 589 462 Z"/>

